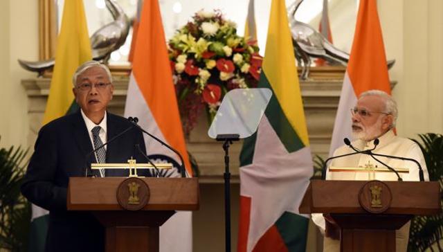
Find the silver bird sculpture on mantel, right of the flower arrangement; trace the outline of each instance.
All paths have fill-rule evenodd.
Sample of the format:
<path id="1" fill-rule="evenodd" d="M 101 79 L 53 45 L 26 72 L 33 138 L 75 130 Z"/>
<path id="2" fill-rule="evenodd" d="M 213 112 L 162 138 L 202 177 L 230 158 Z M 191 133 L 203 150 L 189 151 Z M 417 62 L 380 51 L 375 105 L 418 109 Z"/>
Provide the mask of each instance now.
<path id="1" fill-rule="evenodd" d="M 303 0 L 296 0 L 289 6 L 289 23 L 293 40 L 294 51 L 298 66 L 302 67 L 301 78 L 309 78 L 309 69 L 311 67 L 311 57 L 322 58 L 330 64 L 346 65 L 349 61 L 349 53 L 345 53 L 331 44 L 316 29 L 296 20 L 296 11 Z M 388 69 L 394 64 L 395 60 L 387 62 Z"/>

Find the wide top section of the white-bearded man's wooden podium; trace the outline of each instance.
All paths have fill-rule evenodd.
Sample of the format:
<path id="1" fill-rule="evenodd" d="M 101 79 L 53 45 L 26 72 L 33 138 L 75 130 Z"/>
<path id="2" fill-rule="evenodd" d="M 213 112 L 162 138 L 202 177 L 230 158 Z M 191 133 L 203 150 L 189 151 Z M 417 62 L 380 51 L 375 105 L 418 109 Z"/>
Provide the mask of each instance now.
<path id="1" fill-rule="evenodd" d="M 300 213 L 368 213 L 359 192 L 369 181 L 312 180 L 300 204 Z M 383 181 L 392 194 L 383 214 L 434 215 L 442 210 L 440 184 L 419 181 Z"/>

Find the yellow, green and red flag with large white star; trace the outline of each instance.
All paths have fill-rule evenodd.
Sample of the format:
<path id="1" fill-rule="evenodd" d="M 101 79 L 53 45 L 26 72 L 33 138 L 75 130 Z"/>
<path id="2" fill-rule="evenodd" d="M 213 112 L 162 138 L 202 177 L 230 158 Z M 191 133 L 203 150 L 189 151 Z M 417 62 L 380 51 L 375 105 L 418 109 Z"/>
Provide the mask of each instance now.
<path id="1" fill-rule="evenodd" d="M 237 251 L 305 251 L 309 219 L 298 206 L 313 165 L 284 0 L 273 0 L 258 87 L 273 91 L 240 154 Z"/>

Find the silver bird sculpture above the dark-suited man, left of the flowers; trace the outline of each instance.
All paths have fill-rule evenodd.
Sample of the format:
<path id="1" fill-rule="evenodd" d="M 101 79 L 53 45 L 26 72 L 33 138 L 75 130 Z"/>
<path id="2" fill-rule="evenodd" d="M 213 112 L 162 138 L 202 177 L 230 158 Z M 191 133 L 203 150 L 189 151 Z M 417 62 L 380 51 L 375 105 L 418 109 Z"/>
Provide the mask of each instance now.
<path id="1" fill-rule="evenodd" d="M 105 0 L 105 3 L 114 21 L 96 30 L 90 40 L 93 60 L 107 63 L 111 53 L 125 44 L 130 22 L 116 0 Z M 21 67 L 37 72 L 39 77 L 43 75 L 44 71 L 52 69 L 55 64 L 54 58 L 37 62 L 18 61 Z"/>

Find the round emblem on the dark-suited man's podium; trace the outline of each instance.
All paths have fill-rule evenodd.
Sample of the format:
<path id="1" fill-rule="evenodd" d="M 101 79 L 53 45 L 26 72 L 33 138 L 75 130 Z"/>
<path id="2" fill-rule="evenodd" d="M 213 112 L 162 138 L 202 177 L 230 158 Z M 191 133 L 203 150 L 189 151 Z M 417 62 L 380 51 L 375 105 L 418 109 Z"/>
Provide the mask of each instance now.
<path id="1" fill-rule="evenodd" d="M 126 210 L 140 210 L 150 199 L 150 188 L 136 177 L 125 179 L 117 188 L 117 201 Z"/>

